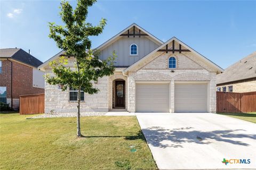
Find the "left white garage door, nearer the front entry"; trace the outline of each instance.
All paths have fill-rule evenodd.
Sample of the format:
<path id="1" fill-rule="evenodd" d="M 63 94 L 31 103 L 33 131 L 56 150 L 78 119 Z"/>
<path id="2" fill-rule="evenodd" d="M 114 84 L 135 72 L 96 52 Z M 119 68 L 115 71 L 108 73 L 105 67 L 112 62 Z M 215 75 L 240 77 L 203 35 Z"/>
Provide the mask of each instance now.
<path id="1" fill-rule="evenodd" d="M 136 112 L 169 112 L 169 83 L 137 83 Z"/>

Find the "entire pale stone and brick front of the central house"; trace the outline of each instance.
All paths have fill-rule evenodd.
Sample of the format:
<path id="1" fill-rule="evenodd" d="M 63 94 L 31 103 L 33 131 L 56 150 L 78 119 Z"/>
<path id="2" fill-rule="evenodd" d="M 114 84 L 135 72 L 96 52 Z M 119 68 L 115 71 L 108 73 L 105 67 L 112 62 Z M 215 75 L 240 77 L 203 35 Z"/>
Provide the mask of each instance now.
<path id="1" fill-rule="evenodd" d="M 177 59 L 177 68 L 169 69 L 169 57 Z M 72 63 L 72 59 L 70 59 Z M 71 65 L 70 65 L 71 66 Z M 116 70 L 110 77 L 99 79 L 95 87 L 100 92 L 95 95 L 85 94 L 85 101 L 81 103 L 81 112 L 97 111 L 107 112 L 113 109 L 113 81 L 125 80 L 125 109 L 135 112 L 135 96 L 137 81 L 164 81 L 170 87 L 170 113 L 174 112 L 174 87 L 177 82 L 205 82 L 207 83 L 207 112 L 216 112 L 216 70 L 207 65 L 191 52 L 181 54 L 165 54 L 156 52 L 153 57 L 138 64 L 127 75 L 122 73 L 123 69 Z M 174 72 L 172 72 L 174 71 Z M 51 73 L 45 69 L 45 73 Z M 58 86 L 45 85 L 45 113 L 50 111 L 58 113 L 76 112 L 76 102 L 69 101 L 69 91 L 61 91 Z"/>

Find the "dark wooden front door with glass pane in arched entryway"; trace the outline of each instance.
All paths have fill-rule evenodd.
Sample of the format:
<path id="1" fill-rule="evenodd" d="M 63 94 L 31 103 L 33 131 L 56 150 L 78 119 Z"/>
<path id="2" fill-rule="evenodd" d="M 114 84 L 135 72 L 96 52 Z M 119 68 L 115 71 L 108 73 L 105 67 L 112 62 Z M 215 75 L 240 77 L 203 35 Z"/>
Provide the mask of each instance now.
<path id="1" fill-rule="evenodd" d="M 116 81 L 115 107 L 125 107 L 125 81 Z"/>

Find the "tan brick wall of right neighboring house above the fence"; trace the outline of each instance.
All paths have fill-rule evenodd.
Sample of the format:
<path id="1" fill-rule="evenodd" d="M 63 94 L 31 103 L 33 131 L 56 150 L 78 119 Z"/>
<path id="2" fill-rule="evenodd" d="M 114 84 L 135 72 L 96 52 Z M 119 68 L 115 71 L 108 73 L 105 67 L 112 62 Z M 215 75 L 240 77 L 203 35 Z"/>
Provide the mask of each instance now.
<path id="1" fill-rule="evenodd" d="M 256 80 L 254 81 L 246 81 L 246 82 L 240 82 L 240 83 L 233 83 L 233 84 L 225 84 L 223 86 L 217 86 L 217 88 L 222 87 L 227 87 L 227 92 L 228 92 L 228 87 L 233 86 L 233 92 L 251 92 L 251 91 L 256 91 Z"/>

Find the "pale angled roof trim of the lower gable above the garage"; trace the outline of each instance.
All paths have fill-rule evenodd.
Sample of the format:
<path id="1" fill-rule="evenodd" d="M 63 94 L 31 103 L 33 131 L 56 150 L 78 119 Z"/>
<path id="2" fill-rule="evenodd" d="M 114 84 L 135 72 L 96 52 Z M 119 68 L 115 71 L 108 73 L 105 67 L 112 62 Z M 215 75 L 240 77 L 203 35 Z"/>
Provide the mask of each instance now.
<path id="1" fill-rule="evenodd" d="M 162 49 L 165 45 L 171 43 L 171 41 L 174 40 L 177 43 L 179 43 L 180 45 L 182 45 L 183 47 L 189 49 L 192 53 L 196 54 L 197 56 L 199 56 L 200 58 L 203 59 L 203 61 L 205 61 L 206 63 L 210 64 L 211 66 L 215 67 L 215 69 L 217 69 L 218 73 L 223 72 L 224 70 L 218 66 L 217 64 L 213 63 L 212 61 L 210 61 L 208 58 L 206 58 L 205 56 L 203 56 L 202 54 L 196 52 L 196 50 L 194 50 L 193 48 L 189 47 L 188 45 L 186 45 L 185 43 L 183 43 L 181 40 L 179 40 L 176 37 L 172 37 L 171 39 L 167 40 L 164 44 L 162 44 L 161 46 L 159 46 L 158 48 L 156 48 L 155 50 L 153 50 L 152 52 L 150 52 L 149 54 L 147 54 L 145 57 L 141 58 L 139 61 L 135 62 L 134 64 L 132 64 L 131 66 L 129 66 L 127 69 L 124 70 L 124 73 L 126 73 L 127 71 L 131 70 L 133 67 L 135 67 L 136 65 L 142 63 L 143 61 L 146 61 L 150 56 L 152 56 L 154 53 L 157 52 L 157 50 Z"/>

